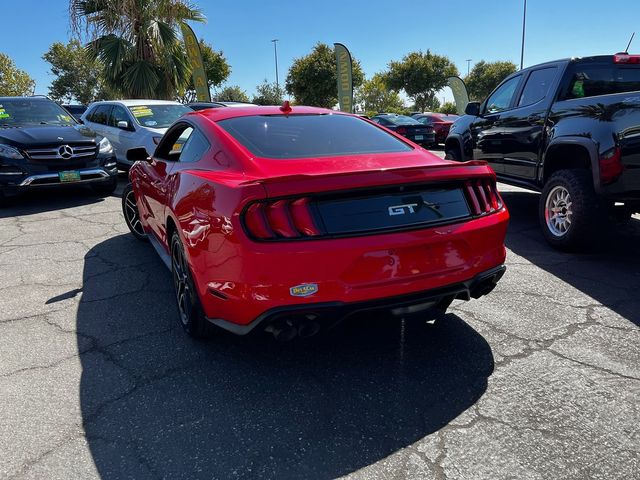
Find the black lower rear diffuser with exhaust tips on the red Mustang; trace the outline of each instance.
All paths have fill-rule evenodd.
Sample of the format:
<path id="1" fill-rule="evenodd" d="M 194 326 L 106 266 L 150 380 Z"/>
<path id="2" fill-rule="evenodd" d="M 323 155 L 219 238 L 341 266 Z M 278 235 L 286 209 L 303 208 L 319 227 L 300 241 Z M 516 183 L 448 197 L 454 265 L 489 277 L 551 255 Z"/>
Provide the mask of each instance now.
<path id="1" fill-rule="evenodd" d="M 449 304 L 455 299 L 469 300 L 470 298 L 480 298 L 491 292 L 504 275 L 505 270 L 506 267 L 500 265 L 499 267 L 482 272 L 465 282 L 396 297 L 364 302 L 324 302 L 273 308 L 247 325 L 238 325 L 217 318 L 208 318 L 207 320 L 237 335 L 246 335 L 258 327 L 260 327 L 259 329 L 263 329 L 270 324 L 284 319 L 293 321 L 300 319 L 301 321 L 305 321 L 313 318 L 314 321 L 331 327 L 350 316 L 367 312 L 389 311 L 395 316 L 422 311 L 439 311 L 439 313 L 444 313 L 444 310 L 446 310 Z"/>

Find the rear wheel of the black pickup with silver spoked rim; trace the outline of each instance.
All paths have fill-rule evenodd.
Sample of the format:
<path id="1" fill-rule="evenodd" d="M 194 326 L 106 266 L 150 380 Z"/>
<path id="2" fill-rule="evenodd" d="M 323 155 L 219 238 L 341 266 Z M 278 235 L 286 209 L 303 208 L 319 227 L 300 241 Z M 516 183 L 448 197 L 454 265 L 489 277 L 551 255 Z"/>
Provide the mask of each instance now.
<path id="1" fill-rule="evenodd" d="M 547 242 L 560 250 L 597 247 L 608 230 L 606 206 L 588 170 L 555 172 L 542 189 L 538 218 Z"/>

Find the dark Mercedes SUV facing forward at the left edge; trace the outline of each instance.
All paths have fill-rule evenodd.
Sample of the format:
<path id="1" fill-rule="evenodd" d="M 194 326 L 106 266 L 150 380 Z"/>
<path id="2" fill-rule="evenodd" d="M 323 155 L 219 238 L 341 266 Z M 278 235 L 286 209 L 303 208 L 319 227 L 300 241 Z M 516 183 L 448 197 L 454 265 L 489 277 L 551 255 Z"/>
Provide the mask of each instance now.
<path id="1" fill-rule="evenodd" d="M 106 138 L 46 97 L 0 97 L 0 201 L 29 188 L 83 183 L 100 195 L 117 186 Z"/>

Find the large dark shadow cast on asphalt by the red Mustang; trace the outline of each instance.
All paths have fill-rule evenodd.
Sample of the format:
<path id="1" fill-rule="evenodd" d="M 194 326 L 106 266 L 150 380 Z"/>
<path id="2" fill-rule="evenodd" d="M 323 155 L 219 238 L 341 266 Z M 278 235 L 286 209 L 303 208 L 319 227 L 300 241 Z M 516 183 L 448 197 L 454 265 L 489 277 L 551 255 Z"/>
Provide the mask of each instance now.
<path id="1" fill-rule="evenodd" d="M 169 271 L 130 235 L 86 255 L 77 331 L 83 424 L 103 479 L 334 478 L 451 422 L 494 368 L 485 339 L 453 314 L 361 318 L 288 344 L 194 341 Z"/>

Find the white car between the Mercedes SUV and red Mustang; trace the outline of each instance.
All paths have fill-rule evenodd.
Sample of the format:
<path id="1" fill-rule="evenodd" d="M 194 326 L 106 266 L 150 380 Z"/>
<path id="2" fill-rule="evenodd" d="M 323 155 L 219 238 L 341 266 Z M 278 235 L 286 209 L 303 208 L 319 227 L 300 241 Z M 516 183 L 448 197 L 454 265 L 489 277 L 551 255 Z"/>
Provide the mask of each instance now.
<path id="1" fill-rule="evenodd" d="M 82 122 L 113 145 L 120 168 L 128 169 L 127 150 L 145 147 L 153 154 L 162 135 L 178 118 L 192 112 L 167 100 L 113 100 L 95 102 L 82 115 Z"/>

